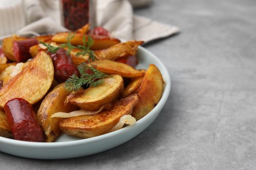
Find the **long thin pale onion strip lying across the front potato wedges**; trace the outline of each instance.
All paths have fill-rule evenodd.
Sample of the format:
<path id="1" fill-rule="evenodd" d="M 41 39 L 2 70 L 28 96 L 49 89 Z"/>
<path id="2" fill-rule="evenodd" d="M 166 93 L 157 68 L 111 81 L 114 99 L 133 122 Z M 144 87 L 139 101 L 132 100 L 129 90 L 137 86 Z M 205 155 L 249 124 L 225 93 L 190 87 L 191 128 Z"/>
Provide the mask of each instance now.
<path id="1" fill-rule="evenodd" d="M 74 116 L 81 116 L 81 115 L 93 115 L 100 112 L 102 109 L 104 109 L 104 106 L 100 107 L 100 109 L 96 111 L 88 111 L 88 110 L 75 110 L 73 112 L 56 112 L 52 114 L 51 118 L 71 118 Z"/>

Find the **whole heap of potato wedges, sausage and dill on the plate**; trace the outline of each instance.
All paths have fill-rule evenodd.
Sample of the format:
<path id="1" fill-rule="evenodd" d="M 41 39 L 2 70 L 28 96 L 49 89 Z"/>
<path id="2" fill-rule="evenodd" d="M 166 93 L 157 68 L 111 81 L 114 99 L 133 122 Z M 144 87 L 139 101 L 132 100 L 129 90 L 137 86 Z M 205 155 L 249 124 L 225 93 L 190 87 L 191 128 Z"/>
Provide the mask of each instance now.
<path id="1" fill-rule="evenodd" d="M 154 63 L 137 69 L 143 41 L 121 42 L 89 26 L 3 40 L 0 136 L 40 142 L 62 133 L 95 137 L 132 126 L 154 109 L 164 81 Z"/>

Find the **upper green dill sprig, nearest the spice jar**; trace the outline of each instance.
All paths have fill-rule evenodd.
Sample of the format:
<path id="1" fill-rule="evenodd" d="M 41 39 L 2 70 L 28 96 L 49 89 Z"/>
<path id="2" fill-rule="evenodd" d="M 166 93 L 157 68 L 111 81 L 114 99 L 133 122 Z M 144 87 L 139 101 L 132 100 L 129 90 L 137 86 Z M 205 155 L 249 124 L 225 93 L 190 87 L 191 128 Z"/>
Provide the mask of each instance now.
<path id="1" fill-rule="evenodd" d="M 95 61 L 95 52 L 93 50 L 91 50 L 91 46 L 94 44 L 93 39 L 91 38 L 91 36 L 88 36 L 88 41 L 86 41 L 86 37 L 83 36 L 83 45 L 77 45 L 74 46 L 71 43 L 71 40 L 74 38 L 75 34 L 74 33 L 69 33 L 68 37 L 67 37 L 67 42 L 66 44 L 61 44 L 60 46 L 64 47 L 64 48 L 68 48 L 68 53 L 71 52 L 71 50 L 73 49 L 79 49 L 81 50 L 80 52 L 77 52 L 77 54 L 75 54 L 75 56 L 85 56 L 85 55 L 89 55 L 89 60 L 91 61 Z"/>

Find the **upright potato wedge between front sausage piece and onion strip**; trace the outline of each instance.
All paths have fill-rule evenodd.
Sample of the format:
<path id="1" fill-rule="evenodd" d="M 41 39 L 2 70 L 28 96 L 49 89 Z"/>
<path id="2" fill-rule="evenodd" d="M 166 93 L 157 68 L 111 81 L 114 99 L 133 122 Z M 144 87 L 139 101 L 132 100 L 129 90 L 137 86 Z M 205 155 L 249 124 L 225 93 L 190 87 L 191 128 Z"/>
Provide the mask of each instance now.
<path id="1" fill-rule="evenodd" d="M 70 94 L 64 89 L 65 84 L 58 84 L 51 92 L 47 93 L 38 111 L 37 119 L 45 131 L 47 142 L 53 142 L 60 135 L 59 123 L 62 118 L 51 118 L 55 112 L 72 112 L 77 109 L 74 105 L 64 104 L 66 97 Z"/>

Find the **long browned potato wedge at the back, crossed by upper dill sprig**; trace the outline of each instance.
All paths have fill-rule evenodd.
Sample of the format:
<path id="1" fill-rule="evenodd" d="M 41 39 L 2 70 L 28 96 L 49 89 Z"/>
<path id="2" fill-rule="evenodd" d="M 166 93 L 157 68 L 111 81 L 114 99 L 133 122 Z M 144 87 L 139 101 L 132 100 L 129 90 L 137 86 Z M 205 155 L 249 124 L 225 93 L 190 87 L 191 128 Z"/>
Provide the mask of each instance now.
<path id="1" fill-rule="evenodd" d="M 53 35 L 52 41 L 57 43 L 66 43 L 68 40 L 68 35 L 70 33 L 56 33 Z M 73 45 L 83 45 L 83 36 L 85 39 L 88 40 L 89 35 L 84 35 L 81 33 L 74 33 L 74 37 L 71 40 Z M 104 48 L 108 48 L 114 44 L 118 44 L 120 42 L 119 39 L 113 37 L 106 37 L 102 35 L 90 35 L 94 41 L 93 46 L 91 46 L 91 50 L 100 50 Z"/>

